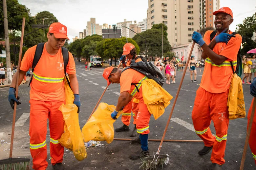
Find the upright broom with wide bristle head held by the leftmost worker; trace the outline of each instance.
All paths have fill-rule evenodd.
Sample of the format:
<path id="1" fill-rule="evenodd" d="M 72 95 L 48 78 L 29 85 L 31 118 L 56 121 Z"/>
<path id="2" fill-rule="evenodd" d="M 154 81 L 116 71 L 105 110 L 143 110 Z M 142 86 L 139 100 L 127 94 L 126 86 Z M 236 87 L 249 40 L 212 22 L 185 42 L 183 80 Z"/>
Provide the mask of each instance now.
<path id="1" fill-rule="evenodd" d="M 18 96 L 19 89 L 19 73 L 20 73 L 20 62 L 22 55 L 22 46 L 23 46 L 23 36 L 25 28 L 25 18 L 22 20 L 22 29 L 21 29 L 21 39 L 20 39 L 20 52 L 19 52 L 19 63 L 17 70 L 17 79 L 16 79 L 16 97 Z M 10 156 L 8 159 L 0 160 L 0 169 L 1 170 L 28 170 L 30 159 L 24 158 L 12 158 L 12 148 L 13 148 L 13 138 L 14 138 L 14 127 L 15 127 L 15 117 L 16 117 L 17 103 L 14 102 L 13 109 L 13 118 L 12 118 L 12 128 L 11 128 L 11 146 L 10 146 Z"/>

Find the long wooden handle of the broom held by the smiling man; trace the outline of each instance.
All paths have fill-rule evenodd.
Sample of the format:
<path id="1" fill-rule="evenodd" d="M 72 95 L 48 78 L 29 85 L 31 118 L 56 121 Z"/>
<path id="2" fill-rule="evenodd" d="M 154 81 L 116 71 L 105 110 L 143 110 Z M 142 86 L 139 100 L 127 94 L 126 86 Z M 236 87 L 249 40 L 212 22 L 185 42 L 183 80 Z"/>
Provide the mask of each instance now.
<path id="1" fill-rule="evenodd" d="M 197 30 L 197 32 L 199 32 L 199 30 Z M 160 150 L 161 150 L 161 147 L 162 147 L 162 144 L 163 144 L 163 140 L 164 140 L 165 134 L 166 134 L 166 132 L 167 132 L 167 129 L 168 129 L 168 126 L 169 126 L 171 117 L 172 117 L 172 113 L 173 113 L 174 107 L 175 107 L 175 105 L 176 105 L 176 102 L 177 102 L 179 93 L 180 93 L 180 91 L 181 91 L 182 82 L 183 82 L 183 79 L 184 79 L 184 77 L 185 77 L 185 74 L 186 74 L 186 71 L 187 71 L 187 67 L 188 67 L 188 63 L 189 63 L 189 61 L 190 61 L 190 57 L 191 57 L 191 55 L 192 55 L 192 51 L 193 51 L 193 49 L 194 49 L 194 46 L 195 46 L 195 42 L 193 42 L 193 44 L 192 44 L 192 47 L 191 47 L 191 50 L 190 50 L 190 53 L 189 53 L 189 56 L 188 56 L 188 59 L 187 59 L 187 63 L 186 63 L 185 69 L 184 69 L 184 71 L 183 71 L 183 75 L 182 75 L 182 77 L 181 77 L 181 82 L 180 82 L 180 85 L 179 85 L 179 89 L 178 89 L 177 94 L 176 94 L 176 96 L 175 96 L 175 99 L 174 99 L 174 102 L 173 102 L 173 106 L 172 106 L 172 110 L 171 110 L 171 112 L 170 112 L 168 121 L 167 121 L 166 126 L 165 126 L 165 129 L 164 129 L 164 133 L 163 133 L 163 136 L 162 136 L 162 139 L 161 139 L 161 142 L 160 142 L 160 145 L 159 145 L 159 147 L 158 147 L 158 151 L 157 151 L 156 154 L 159 154 L 159 152 L 160 152 Z"/>

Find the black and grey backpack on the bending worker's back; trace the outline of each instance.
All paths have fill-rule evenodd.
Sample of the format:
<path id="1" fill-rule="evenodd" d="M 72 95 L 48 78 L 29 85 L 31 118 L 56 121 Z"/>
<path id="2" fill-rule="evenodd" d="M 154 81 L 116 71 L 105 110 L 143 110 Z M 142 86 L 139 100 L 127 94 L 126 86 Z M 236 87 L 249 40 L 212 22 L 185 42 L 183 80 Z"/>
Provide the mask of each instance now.
<path id="1" fill-rule="evenodd" d="M 148 78 L 155 80 L 160 86 L 164 84 L 164 77 L 162 73 L 152 62 L 147 62 L 147 61 L 135 62 L 135 60 L 133 59 L 130 66 L 124 68 L 121 71 L 121 73 L 123 73 L 125 70 L 129 68 L 134 69 L 139 73 L 147 76 Z M 132 84 L 135 85 L 135 87 L 137 88 L 137 91 L 139 92 L 139 89 L 136 86 L 136 84 L 138 83 L 132 83 Z"/>

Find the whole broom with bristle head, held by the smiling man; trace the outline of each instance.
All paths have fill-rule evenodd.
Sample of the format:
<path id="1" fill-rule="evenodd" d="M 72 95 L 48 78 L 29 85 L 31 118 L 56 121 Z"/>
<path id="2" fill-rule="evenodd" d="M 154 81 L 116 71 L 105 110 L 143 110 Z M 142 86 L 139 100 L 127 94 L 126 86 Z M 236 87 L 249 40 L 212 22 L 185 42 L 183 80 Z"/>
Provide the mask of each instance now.
<path id="1" fill-rule="evenodd" d="M 199 32 L 199 30 L 197 30 L 197 32 Z M 185 77 L 185 74 L 186 74 L 186 71 L 187 71 L 188 63 L 190 61 L 190 57 L 192 55 L 192 51 L 194 49 L 194 46 L 195 46 L 195 42 L 193 42 L 193 44 L 192 44 L 192 47 L 191 47 L 191 50 L 190 50 L 190 53 L 189 53 L 189 56 L 188 56 L 188 59 L 187 59 L 187 63 L 186 63 L 185 69 L 183 71 L 183 75 L 181 77 L 181 82 L 180 82 L 180 85 L 179 85 L 179 88 L 178 88 L 178 91 L 177 91 L 177 94 L 176 94 L 176 97 L 175 97 L 175 100 L 174 100 L 174 103 L 173 103 L 173 106 L 172 106 L 172 110 L 170 112 L 168 121 L 166 123 L 160 145 L 158 147 L 158 151 L 157 151 L 156 155 L 149 155 L 149 156 L 143 158 L 142 159 L 142 165 L 140 167 L 143 167 L 143 168 L 149 169 L 149 170 L 150 169 L 157 169 L 159 164 L 161 164 L 161 166 L 163 166 L 164 163 L 167 164 L 169 162 L 168 154 L 165 154 L 165 155 L 160 154 L 160 150 L 161 150 L 161 147 L 162 147 L 162 144 L 163 144 L 163 141 L 164 141 L 164 137 L 165 137 L 165 134 L 167 132 L 167 129 L 168 129 L 171 117 L 172 117 L 172 113 L 173 113 L 173 110 L 175 108 L 175 105 L 176 105 L 176 102 L 177 102 L 177 99 L 178 99 L 178 96 L 179 96 L 179 93 L 180 93 L 180 90 L 181 90 L 181 86 L 182 86 L 182 83 L 183 83 L 183 80 L 184 80 L 184 77 Z"/>

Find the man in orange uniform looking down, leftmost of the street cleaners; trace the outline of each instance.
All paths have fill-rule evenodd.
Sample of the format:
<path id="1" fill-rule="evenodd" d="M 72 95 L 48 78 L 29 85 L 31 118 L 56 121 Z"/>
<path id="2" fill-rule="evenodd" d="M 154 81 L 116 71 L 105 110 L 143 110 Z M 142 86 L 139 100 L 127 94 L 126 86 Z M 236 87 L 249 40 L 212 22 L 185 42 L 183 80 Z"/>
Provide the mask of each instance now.
<path id="1" fill-rule="evenodd" d="M 64 64 L 62 46 L 66 42 L 67 27 L 61 23 L 53 23 L 47 33 L 48 42 L 44 44 L 42 55 L 32 73 L 33 79 L 30 90 L 30 152 L 33 159 L 33 169 L 45 170 L 48 166 L 47 159 L 47 119 L 50 127 L 50 154 L 55 170 L 62 170 L 64 147 L 58 142 L 64 132 L 64 119 L 59 107 L 65 103 L 64 93 Z M 19 84 L 26 72 L 32 67 L 37 46 L 29 48 L 20 66 Z M 78 81 L 76 78 L 75 61 L 70 52 L 66 73 L 74 92 L 74 104 L 80 107 Z M 47 64 L 46 64 L 47 63 Z M 13 77 L 9 90 L 9 101 L 13 108 L 14 101 L 20 102 L 15 97 L 15 84 L 17 74 Z"/>

